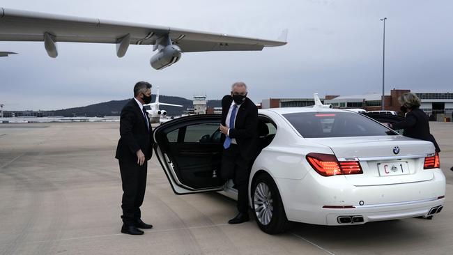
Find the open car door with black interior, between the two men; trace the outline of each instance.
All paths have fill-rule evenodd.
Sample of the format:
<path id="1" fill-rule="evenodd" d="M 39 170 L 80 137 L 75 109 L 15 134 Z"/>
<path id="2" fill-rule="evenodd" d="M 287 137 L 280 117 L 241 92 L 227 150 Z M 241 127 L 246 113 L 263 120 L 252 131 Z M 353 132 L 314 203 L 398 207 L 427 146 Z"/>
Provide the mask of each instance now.
<path id="1" fill-rule="evenodd" d="M 155 128 L 155 155 L 176 194 L 223 190 L 220 121 L 220 114 L 194 115 Z"/>

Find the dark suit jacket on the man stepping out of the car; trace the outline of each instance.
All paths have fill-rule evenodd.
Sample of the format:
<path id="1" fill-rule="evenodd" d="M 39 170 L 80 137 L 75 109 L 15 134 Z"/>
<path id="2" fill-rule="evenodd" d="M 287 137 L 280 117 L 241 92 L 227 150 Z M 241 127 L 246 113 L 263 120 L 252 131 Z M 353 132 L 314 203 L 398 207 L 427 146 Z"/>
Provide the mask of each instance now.
<path id="1" fill-rule="evenodd" d="M 222 98 L 222 125 L 225 125 L 231 102 L 233 102 L 231 95 L 225 95 Z M 252 100 L 246 98 L 236 113 L 236 123 L 234 128 L 230 129 L 229 136 L 231 139 L 236 139 L 240 154 L 247 160 L 252 160 L 256 156 L 257 126 L 258 109 Z"/>

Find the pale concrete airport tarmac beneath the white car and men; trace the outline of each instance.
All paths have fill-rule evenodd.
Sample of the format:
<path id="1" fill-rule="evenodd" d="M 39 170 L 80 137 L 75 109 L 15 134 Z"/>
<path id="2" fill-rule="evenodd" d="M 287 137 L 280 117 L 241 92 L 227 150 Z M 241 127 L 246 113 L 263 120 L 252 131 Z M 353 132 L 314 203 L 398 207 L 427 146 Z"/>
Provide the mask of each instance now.
<path id="1" fill-rule="evenodd" d="M 236 202 L 177 196 L 148 162 L 144 235 L 121 229 L 119 123 L 0 124 L 0 254 L 452 254 L 453 123 L 430 123 L 447 178 L 443 212 L 358 226 L 293 224 L 267 235 L 229 225 Z"/>

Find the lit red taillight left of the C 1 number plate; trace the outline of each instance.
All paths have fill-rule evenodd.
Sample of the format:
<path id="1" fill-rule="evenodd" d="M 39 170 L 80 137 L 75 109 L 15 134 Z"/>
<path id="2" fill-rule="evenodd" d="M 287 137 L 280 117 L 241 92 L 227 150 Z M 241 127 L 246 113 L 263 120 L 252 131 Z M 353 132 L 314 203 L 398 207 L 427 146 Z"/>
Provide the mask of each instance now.
<path id="1" fill-rule="evenodd" d="M 321 176 L 363 173 L 358 161 L 338 161 L 337 157 L 331 154 L 309 153 L 307 161 Z"/>

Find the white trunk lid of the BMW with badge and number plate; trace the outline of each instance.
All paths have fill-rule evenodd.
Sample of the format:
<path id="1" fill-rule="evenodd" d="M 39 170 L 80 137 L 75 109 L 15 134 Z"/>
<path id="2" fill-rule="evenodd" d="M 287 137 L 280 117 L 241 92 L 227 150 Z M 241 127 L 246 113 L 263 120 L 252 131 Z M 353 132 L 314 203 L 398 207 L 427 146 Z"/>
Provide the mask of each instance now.
<path id="1" fill-rule="evenodd" d="M 423 169 L 424 157 L 434 153 L 429 141 L 403 136 L 309 139 L 332 149 L 339 161 L 358 160 L 362 174 L 345 175 L 355 186 L 415 183 L 433 178 Z"/>

